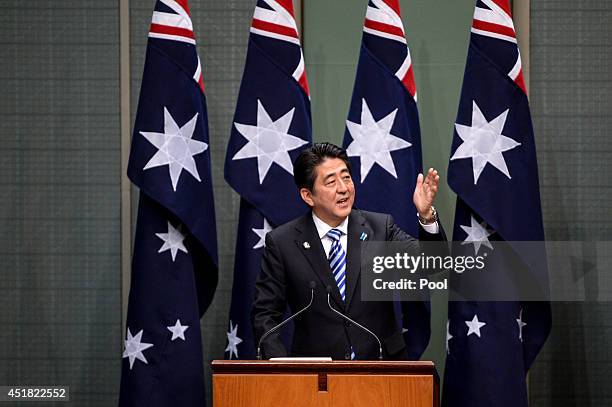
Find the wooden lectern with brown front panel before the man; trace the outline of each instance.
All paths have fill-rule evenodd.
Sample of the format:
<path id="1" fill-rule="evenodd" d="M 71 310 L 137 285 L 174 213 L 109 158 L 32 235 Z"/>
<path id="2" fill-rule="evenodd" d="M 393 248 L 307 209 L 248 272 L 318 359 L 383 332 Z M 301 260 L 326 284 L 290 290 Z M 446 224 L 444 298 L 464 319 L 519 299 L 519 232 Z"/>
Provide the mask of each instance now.
<path id="1" fill-rule="evenodd" d="M 432 362 L 215 360 L 213 407 L 438 407 Z"/>

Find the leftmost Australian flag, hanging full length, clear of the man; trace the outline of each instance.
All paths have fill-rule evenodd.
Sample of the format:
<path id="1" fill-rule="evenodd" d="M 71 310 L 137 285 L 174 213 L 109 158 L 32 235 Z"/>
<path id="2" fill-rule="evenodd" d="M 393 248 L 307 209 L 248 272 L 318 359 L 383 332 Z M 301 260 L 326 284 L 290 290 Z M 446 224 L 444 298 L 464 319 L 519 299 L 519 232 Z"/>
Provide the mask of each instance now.
<path id="1" fill-rule="evenodd" d="M 128 176 L 140 188 L 120 406 L 203 406 L 217 286 L 208 119 L 187 0 L 158 0 Z"/>

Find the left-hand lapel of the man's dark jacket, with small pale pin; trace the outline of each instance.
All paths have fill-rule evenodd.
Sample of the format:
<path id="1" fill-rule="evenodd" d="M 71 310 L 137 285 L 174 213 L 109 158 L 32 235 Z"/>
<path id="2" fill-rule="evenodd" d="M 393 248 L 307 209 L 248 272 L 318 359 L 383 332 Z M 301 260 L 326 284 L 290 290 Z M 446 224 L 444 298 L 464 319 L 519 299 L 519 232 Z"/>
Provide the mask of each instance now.
<path id="1" fill-rule="evenodd" d="M 295 239 L 295 244 L 298 245 L 300 251 L 306 257 L 306 260 L 312 267 L 312 270 L 317 275 L 324 287 L 332 288 L 331 296 L 338 306 L 344 308 L 344 301 L 340 297 L 340 291 L 333 278 L 327 256 L 323 244 L 317 233 L 317 228 L 312 220 L 312 214 L 308 213 L 302 217 L 301 221 L 296 225 L 296 229 L 300 232 Z"/>

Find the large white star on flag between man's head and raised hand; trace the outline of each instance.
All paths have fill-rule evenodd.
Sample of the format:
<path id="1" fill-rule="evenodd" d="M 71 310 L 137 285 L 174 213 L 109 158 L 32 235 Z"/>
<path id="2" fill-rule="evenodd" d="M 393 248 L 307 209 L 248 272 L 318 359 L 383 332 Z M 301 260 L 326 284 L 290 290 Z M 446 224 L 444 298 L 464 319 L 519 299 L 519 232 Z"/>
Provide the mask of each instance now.
<path id="1" fill-rule="evenodd" d="M 412 144 L 391 134 L 397 109 L 379 121 L 374 120 L 365 99 L 361 105 L 361 124 L 346 121 L 346 127 L 353 138 L 346 152 L 351 157 L 360 157 L 361 182 L 363 183 L 374 164 L 397 178 L 391 152 L 408 148 Z"/>

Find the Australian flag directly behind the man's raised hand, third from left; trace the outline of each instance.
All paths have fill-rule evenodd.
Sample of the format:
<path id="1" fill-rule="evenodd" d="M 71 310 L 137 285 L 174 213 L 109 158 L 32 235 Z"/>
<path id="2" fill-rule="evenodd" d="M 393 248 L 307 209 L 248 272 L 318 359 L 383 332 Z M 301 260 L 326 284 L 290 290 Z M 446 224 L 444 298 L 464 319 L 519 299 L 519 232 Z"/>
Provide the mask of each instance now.
<path id="1" fill-rule="evenodd" d="M 411 197 L 423 167 L 416 101 L 399 1 L 370 0 L 343 145 L 353 166 L 355 206 L 391 214 L 412 236 L 418 220 Z M 408 355 L 418 359 L 429 343 L 429 303 L 402 308 Z"/>

